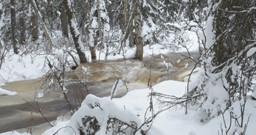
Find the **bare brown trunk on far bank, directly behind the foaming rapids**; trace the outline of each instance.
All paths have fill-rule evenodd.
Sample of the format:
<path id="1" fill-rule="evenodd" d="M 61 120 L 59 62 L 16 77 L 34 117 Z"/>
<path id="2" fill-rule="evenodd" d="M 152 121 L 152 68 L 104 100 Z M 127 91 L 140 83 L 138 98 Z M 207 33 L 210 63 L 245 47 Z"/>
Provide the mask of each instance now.
<path id="1" fill-rule="evenodd" d="M 134 4 L 134 24 L 135 24 L 135 41 L 136 41 L 136 59 L 143 59 L 143 43 L 139 0 L 135 0 Z"/>

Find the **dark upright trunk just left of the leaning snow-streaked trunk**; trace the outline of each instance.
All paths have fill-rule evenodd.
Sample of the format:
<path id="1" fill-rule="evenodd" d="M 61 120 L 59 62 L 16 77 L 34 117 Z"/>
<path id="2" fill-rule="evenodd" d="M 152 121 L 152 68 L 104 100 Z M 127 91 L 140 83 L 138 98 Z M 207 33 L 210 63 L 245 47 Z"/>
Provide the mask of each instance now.
<path id="1" fill-rule="evenodd" d="M 63 31 L 63 36 L 69 39 L 69 31 L 68 31 L 68 23 L 67 23 L 67 18 L 66 18 L 66 8 L 63 3 L 61 3 L 61 28 Z"/>

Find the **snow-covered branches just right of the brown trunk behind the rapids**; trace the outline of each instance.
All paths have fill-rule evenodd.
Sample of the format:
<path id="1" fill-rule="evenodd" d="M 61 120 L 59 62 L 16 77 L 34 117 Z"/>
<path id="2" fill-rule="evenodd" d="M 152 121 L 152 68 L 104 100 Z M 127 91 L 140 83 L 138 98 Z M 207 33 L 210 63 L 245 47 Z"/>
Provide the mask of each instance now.
<path id="1" fill-rule="evenodd" d="M 185 23 L 187 19 L 184 17 L 184 2 L 179 0 L 141 2 L 144 43 L 163 43 L 167 45 L 167 48 L 175 50 L 179 45 L 176 44 L 176 41 L 173 42 L 171 37 L 177 34 L 178 38 L 176 39 L 179 39 L 179 34 L 184 34 L 184 29 L 187 29 Z M 177 43 L 179 44 L 179 41 Z"/>

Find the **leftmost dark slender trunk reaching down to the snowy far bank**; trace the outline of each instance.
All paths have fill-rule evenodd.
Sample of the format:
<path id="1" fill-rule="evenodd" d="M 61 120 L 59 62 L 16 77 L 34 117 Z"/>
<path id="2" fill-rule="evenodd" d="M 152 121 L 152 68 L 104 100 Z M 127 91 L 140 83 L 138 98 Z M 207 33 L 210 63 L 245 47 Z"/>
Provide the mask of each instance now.
<path id="1" fill-rule="evenodd" d="M 11 21 L 11 32 L 12 32 L 12 41 L 13 41 L 13 51 L 15 54 L 18 54 L 17 40 L 15 35 L 16 30 L 16 12 L 15 12 L 15 0 L 10 0 L 10 21 Z"/>

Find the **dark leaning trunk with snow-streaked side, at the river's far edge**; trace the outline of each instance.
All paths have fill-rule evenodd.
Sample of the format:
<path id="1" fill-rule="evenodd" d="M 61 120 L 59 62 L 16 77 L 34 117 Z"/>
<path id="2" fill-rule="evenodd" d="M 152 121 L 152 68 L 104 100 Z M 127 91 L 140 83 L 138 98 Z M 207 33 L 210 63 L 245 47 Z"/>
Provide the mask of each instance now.
<path id="1" fill-rule="evenodd" d="M 66 7 L 66 13 L 68 15 L 69 18 L 69 27 L 70 27 L 70 31 L 75 43 L 75 48 L 77 49 L 77 54 L 80 58 L 80 63 L 86 63 L 87 59 L 86 59 L 86 54 L 84 54 L 84 50 L 83 50 L 83 45 L 80 39 L 80 33 L 78 32 L 77 26 L 76 26 L 76 19 L 75 19 L 75 14 L 73 12 L 73 10 L 71 9 L 71 7 L 69 7 L 69 4 L 72 4 L 72 2 L 70 0 L 64 0 L 63 3 Z M 71 5 L 70 5 L 71 6 Z"/>

